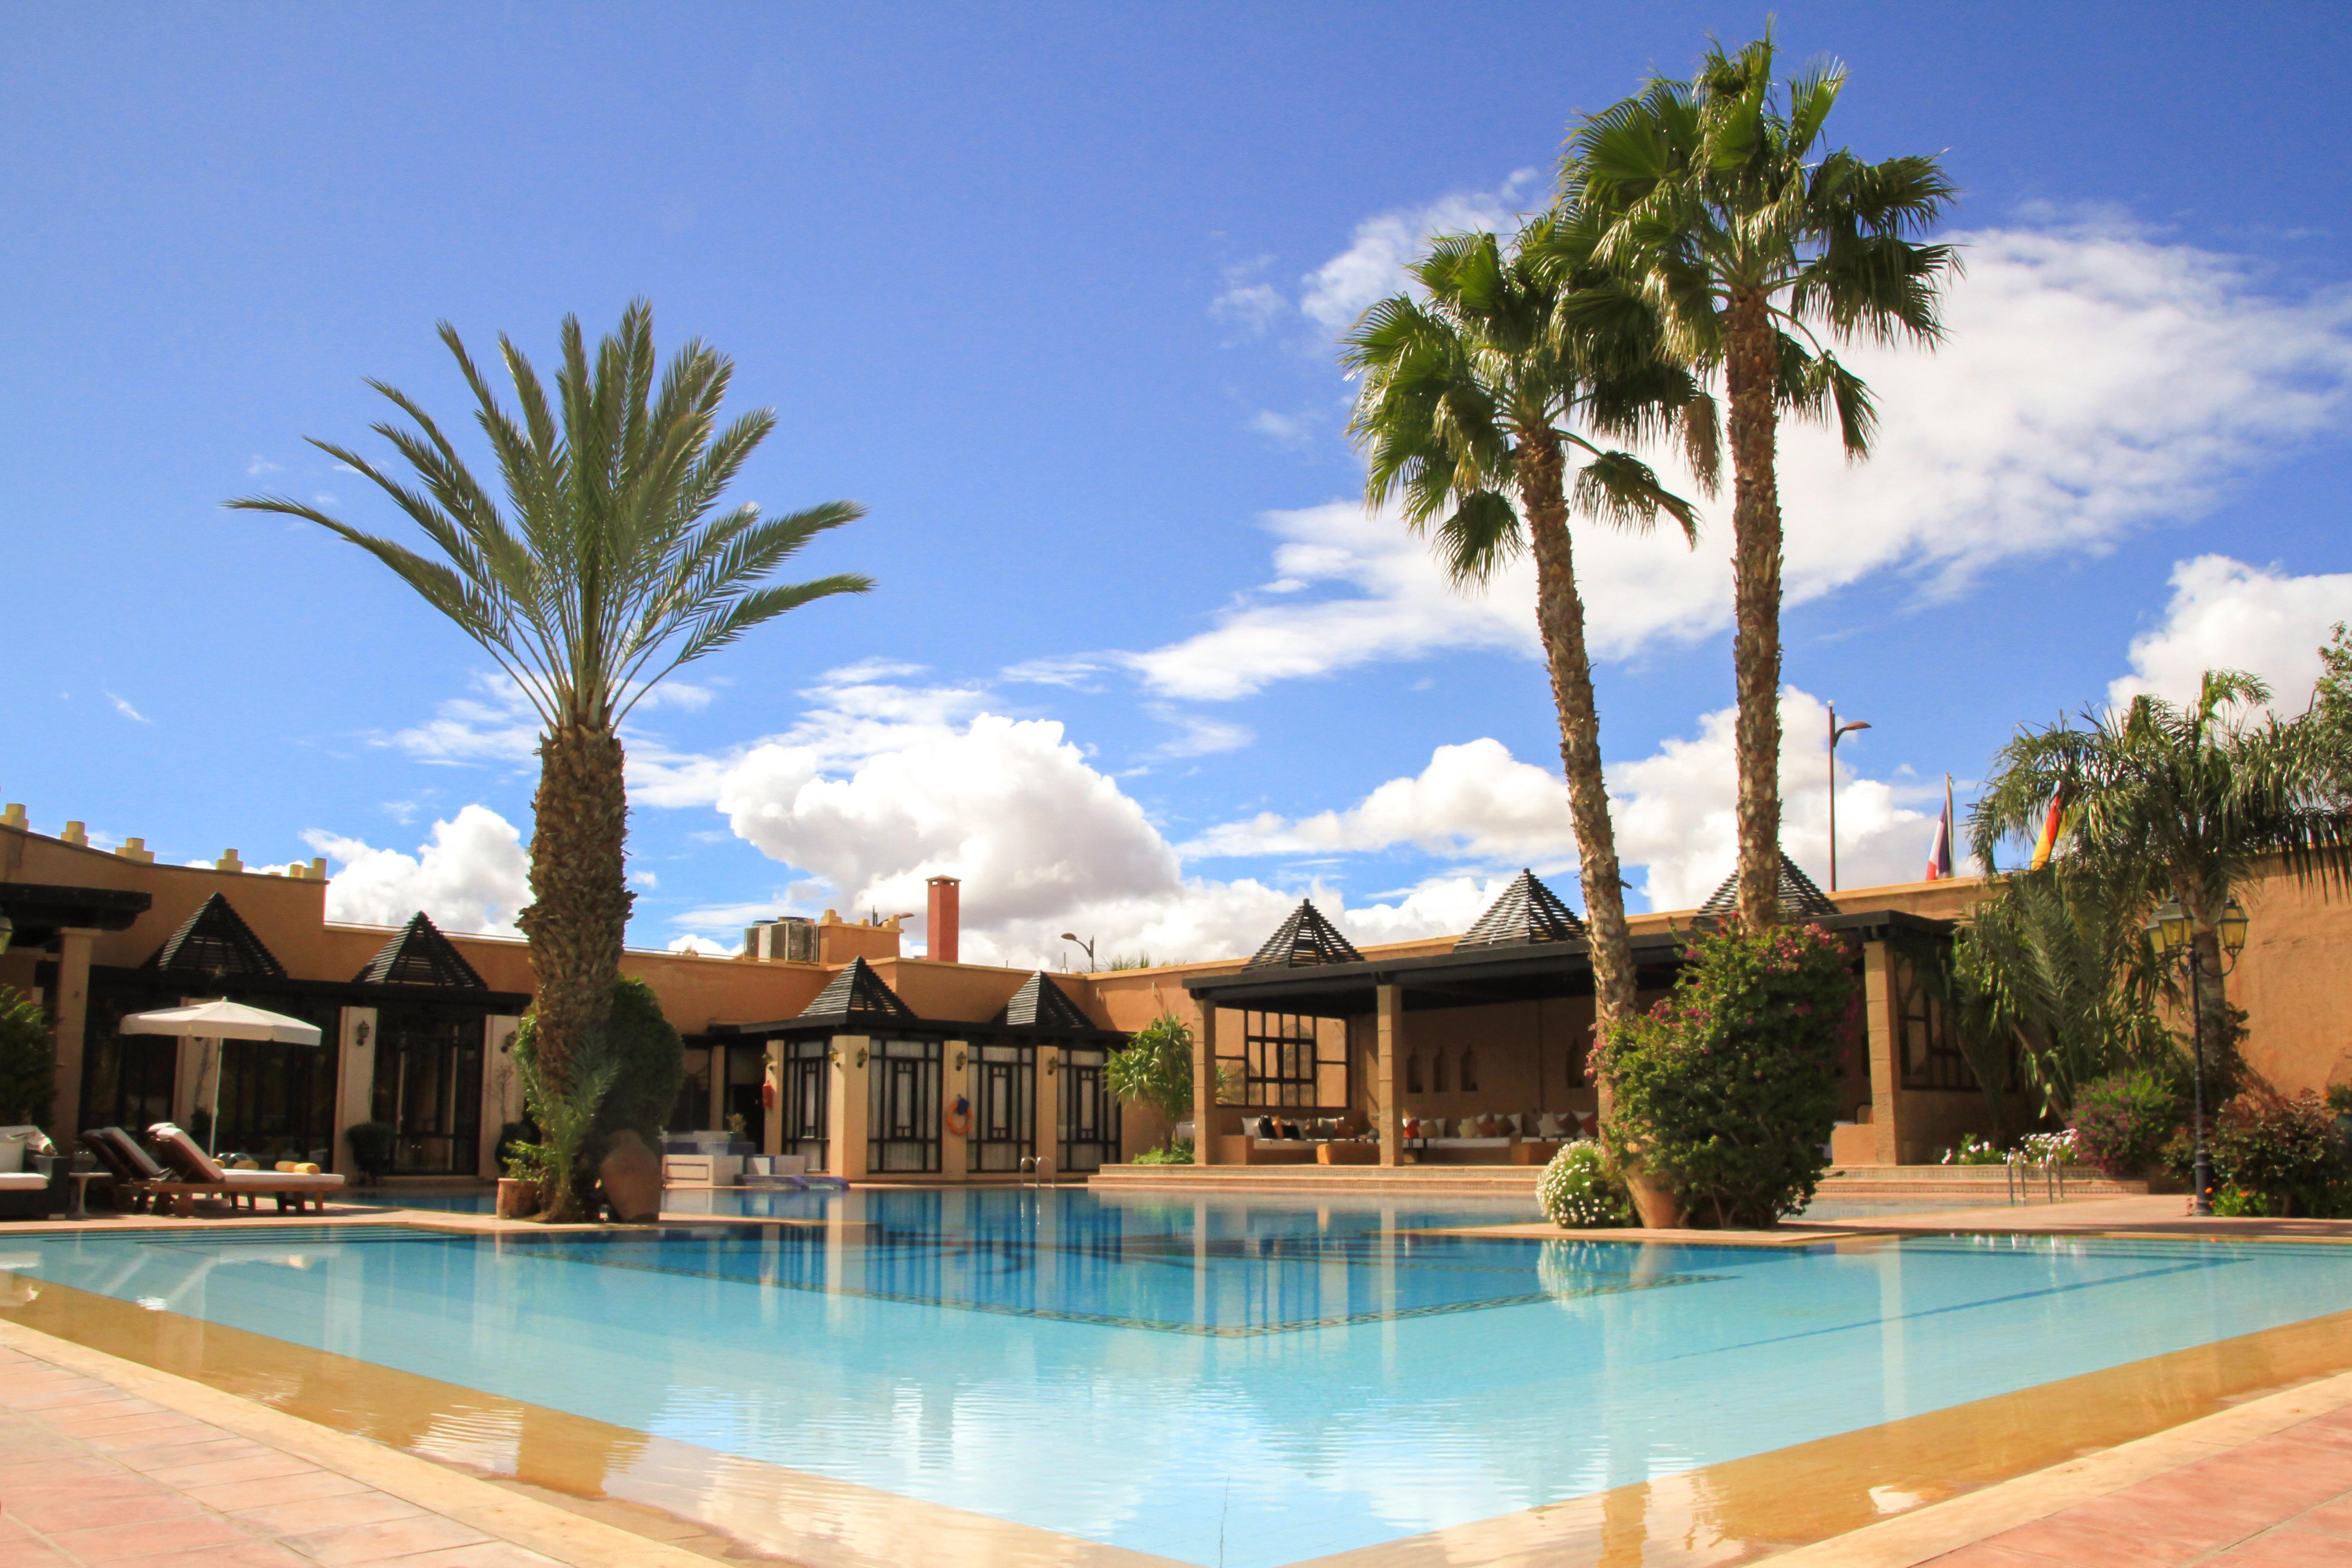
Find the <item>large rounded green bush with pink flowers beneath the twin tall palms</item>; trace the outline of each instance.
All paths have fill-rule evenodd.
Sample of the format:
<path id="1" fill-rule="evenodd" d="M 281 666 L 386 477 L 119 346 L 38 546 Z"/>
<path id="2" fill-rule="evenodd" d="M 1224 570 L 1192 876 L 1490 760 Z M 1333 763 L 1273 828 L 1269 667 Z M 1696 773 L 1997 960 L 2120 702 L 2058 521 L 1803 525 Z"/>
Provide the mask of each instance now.
<path id="1" fill-rule="evenodd" d="M 1698 933 L 1675 994 L 1592 1053 L 1618 1166 L 1696 1225 L 1771 1225 L 1813 1201 L 1837 1121 L 1853 957 L 1820 926 Z"/>

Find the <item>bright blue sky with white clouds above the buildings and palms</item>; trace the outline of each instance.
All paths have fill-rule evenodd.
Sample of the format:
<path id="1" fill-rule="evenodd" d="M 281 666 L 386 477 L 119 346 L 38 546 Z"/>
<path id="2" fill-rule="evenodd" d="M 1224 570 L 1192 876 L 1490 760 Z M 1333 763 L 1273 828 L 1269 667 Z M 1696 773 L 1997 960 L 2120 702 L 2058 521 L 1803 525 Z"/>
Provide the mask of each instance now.
<path id="1" fill-rule="evenodd" d="M 1573 896 L 1524 595 L 1446 595 L 1359 508 L 1331 339 L 1432 228 L 1543 202 L 1569 120 L 1762 9 L 0 7 L 0 799 L 172 860 L 327 853 L 334 912 L 499 929 L 529 736 L 468 642 L 252 489 L 395 527 L 303 435 L 433 341 L 541 362 L 644 294 L 781 428 L 741 491 L 870 517 L 880 590 L 637 719 L 633 940 L 917 910 L 967 954 L 1362 940 Z M 1889 433 L 1783 442 L 1790 849 L 1820 701 L 1863 717 L 1846 882 L 1907 879 L 2018 722 L 2204 663 L 2307 686 L 2352 616 L 2352 174 L 2333 7 L 1780 7 L 1858 153 L 1945 150 L 1952 343 Z M 1621 839 L 1729 870 L 1724 527 L 1588 534 Z M 2117 684 L 2122 682 L 2122 684 Z M 2300 696 L 2296 698 L 2300 705 Z"/>

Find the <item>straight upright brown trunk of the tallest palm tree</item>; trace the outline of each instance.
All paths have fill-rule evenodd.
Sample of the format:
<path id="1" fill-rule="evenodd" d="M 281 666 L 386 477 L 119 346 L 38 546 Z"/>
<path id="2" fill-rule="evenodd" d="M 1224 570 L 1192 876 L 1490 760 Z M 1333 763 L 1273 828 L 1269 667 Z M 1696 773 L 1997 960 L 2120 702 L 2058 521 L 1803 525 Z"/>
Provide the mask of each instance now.
<path id="1" fill-rule="evenodd" d="M 1780 355 L 1764 294 L 1731 296 L 1726 341 L 1740 919 L 1762 929 L 1780 919 Z"/>

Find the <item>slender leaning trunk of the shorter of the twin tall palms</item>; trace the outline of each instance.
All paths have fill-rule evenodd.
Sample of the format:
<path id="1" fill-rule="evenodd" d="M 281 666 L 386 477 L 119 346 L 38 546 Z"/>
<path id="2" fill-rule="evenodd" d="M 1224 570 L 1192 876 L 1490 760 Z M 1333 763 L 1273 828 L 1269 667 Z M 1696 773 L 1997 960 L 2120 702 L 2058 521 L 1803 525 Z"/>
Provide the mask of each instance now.
<path id="1" fill-rule="evenodd" d="M 1585 651 L 1585 602 L 1576 592 L 1576 552 L 1559 442 L 1519 442 L 1519 505 L 1536 557 L 1536 625 L 1552 672 L 1559 710 L 1559 766 L 1569 778 L 1569 818 L 1585 884 L 1585 929 L 1592 947 L 1592 1030 L 1635 1011 L 1632 933 L 1625 929 L 1625 884 L 1618 875 L 1609 785 L 1602 778 L 1602 722 L 1592 703 L 1592 656 Z M 1609 1086 L 1599 1084 L 1602 1110 Z"/>

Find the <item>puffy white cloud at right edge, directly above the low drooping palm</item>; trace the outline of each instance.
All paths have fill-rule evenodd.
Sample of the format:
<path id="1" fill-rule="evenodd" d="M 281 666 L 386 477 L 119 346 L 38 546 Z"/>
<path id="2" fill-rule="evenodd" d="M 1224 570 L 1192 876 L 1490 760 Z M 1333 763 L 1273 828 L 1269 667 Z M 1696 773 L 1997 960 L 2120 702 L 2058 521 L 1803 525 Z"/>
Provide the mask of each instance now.
<path id="1" fill-rule="evenodd" d="M 2206 670 L 2251 670 L 2270 682 L 2277 710 L 2303 712 L 2338 621 L 2352 621 L 2352 571 L 2293 576 L 2227 555 L 2178 562 L 2164 621 L 2131 639 L 2131 675 L 2107 686 L 2107 701 L 2147 691 L 2187 703 Z"/>

